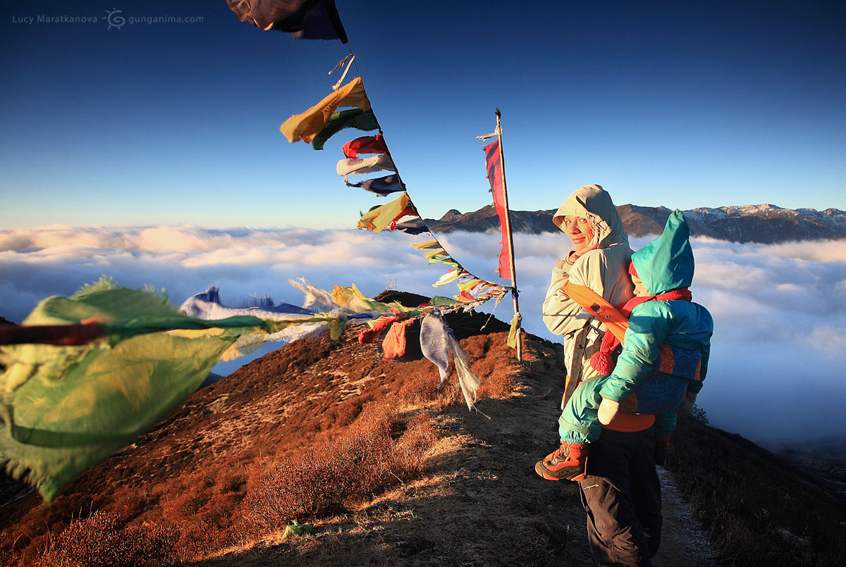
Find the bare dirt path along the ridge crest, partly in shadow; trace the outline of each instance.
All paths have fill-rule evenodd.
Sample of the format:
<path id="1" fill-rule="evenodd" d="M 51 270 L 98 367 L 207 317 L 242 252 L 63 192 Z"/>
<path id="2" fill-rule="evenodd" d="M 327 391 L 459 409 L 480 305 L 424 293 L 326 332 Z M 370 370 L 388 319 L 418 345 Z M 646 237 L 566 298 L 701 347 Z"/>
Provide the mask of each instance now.
<path id="1" fill-rule="evenodd" d="M 481 401 L 486 415 L 453 407 L 437 416 L 447 435 L 426 477 L 320 522 L 316 537 L 276 534 L 202 564 L 592 565 L 576 485 L 534 471 L 558 443 L 561 373 L 554 348 L 534 346 L 512 397 Z M 692 513 L 665 486 L 656 564 L 711 565 Z"/>

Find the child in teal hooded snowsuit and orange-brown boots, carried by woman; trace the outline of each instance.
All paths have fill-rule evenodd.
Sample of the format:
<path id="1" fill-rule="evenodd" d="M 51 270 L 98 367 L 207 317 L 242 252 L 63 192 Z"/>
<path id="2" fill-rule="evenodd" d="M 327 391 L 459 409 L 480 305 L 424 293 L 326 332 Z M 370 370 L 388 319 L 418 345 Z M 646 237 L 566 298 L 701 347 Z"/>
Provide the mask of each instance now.
<path id="1" fill-rule="evenodd" d="M 588 445 L 599 438 L 602 424 L 613 428 L 621 405 L 624 412 L 656 416 L 656 460 L 661 452 L 666 459 L 676 408 L 685 396 L 692 405 L 702 388 L 714 330 L 711 313 L 690 300 L 694 259 L 689 236 L 684 216 L 675 210 L 662 235 L 632 254 L 635 297 L 622 309 L 629 315 L 623 350 L 611 365 L 613 372 L 579 384 L 564 405 L 558 418 L 561 447 L 537 462 L 541 477 L 584 478 Z M 607 331 L 602 350 L 614 341 Z M 595 368 L 596 356 L 591 358 Z"/>

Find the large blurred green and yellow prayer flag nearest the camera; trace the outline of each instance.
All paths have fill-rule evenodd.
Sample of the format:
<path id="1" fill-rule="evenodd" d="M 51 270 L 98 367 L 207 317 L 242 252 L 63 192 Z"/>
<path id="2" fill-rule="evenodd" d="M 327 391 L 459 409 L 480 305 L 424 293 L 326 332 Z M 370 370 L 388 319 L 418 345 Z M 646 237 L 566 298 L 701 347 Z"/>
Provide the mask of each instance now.
<path id="1" fill-rule="evenodd" d="M 102 340 L 0 349 L 0 462 L 39 485 L 47 501 L 173 412 L 239 337 L 286 325 L 249 316 L 194 319 L 166 297 L 105 279 L 69 298 L 47 298 L 24 324 L 91 318 L 105 321 L 110 333 Z M 167 329 L 176 330 L 161 332 Z"/>

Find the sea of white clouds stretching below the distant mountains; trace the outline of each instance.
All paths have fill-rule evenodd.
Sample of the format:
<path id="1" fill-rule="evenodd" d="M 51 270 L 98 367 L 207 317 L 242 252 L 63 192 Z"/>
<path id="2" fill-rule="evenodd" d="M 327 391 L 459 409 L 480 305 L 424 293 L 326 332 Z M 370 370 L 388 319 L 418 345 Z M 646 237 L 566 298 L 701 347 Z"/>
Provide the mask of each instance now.
<path id="1" fill-rule="evenodd" d="M 388 283 L 423 295 L 447 268 L 430 265 L 404 233 L 195 226 L 70 227 L 0 231 L 0 316 L 14 322 L 44 297 L 68 296 L 110 275 L 130 287 L 163 288 L 174 304 L 218 286 L 222 302 L 270 295 L 301 304 L 289 278 L 322 289 L 355 284 L 370 297 Z M 438 239 L 464 267 L 493 274 L 494 234 L 449 233 Z M 650 238 L 633 238 L 637 249 Z M 514 237 L 520 312 L 526 330 L 556 340 L 541 322 L 541 302 L 563 234 Z M 694 240 L 694 300 L 715 324 L 711 365 L 699 404 L 719 428 L 762 444 L 846 436 L 846 242 L 736 244 Z M 503 282 L 504 283 L 504 282 Z M 489 310 L 489 309 L 488 309 Z M 511 318 L 511 302 L 495 314 Z M 272 346 L 265 346 L 267 352 Z M 218 373 L 237 368 L 220 366 Z"/>

